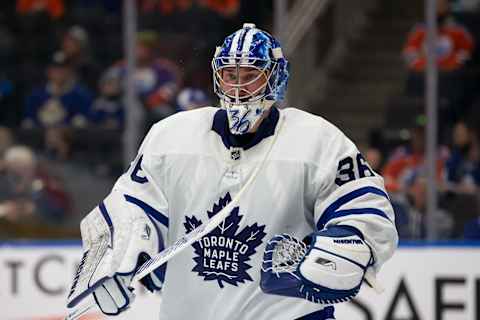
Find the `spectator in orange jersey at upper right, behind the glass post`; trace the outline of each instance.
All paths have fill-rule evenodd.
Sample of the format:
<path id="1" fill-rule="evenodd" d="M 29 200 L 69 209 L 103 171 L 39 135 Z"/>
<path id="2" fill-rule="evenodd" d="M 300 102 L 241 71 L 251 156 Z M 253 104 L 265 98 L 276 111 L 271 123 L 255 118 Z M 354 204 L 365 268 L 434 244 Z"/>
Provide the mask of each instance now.
<path id="1" fill-rule="evenodd" d="M 449 4 L 439 1 L 437 6 L 438 35 L 436 54 L 441 71 L 454 71 L 463 67 L 471 57 L 474 48 L 473 37 L 465 27 L 450 17 Z M 403 54 L 410 70 L 423 72 L 426 67 L 427 29 L 419 24 L 411 31 Z"/>

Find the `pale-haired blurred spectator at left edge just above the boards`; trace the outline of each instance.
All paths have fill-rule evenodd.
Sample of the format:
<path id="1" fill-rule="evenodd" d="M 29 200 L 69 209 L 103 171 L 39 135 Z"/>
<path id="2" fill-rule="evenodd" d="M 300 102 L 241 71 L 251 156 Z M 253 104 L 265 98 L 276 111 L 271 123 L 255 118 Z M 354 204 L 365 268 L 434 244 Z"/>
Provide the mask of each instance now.
<path id="1" fill-rule="evenodd" d="M 60 181 L 41 172 L 32 150 L 12 146 L 5 153 L 4 163 L 0 217 L 13 222 L 62 222 L 70 210 L 70 198 Z"/>

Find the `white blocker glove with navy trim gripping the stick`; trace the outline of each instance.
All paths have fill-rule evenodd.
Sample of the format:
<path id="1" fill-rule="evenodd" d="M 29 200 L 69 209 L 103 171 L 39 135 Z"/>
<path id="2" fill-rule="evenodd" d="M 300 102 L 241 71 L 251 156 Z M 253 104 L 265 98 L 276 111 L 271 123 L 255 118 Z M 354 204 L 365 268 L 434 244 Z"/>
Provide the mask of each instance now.
<path id="1" fill-rule="evenodd" d="M 123 201 L 123 203 L 122 203 Z M 136 270 L 163 249 L 156 225 L 138 206 L 111 193 L 80 224 L 84 254 L 68 296 L 69 309 L 93 294 L 107 315 L 124 311 L 134 300 L 130 287 Z M 148 290 L 160 290 L 165 267 L 141 280 Z"/>

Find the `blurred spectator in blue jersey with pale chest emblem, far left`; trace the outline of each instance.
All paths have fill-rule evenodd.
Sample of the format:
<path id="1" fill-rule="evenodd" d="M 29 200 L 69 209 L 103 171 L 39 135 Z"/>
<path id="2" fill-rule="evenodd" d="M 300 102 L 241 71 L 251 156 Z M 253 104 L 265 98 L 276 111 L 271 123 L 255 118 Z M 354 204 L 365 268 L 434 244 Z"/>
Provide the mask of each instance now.
<path id="1" fill-rule="evenodd" d="M 63 52 L 52 57 L 47 83 L 27 97 L 22 126 L 85 127 L 90 121 L 91 92 L 79 83 Z"/>

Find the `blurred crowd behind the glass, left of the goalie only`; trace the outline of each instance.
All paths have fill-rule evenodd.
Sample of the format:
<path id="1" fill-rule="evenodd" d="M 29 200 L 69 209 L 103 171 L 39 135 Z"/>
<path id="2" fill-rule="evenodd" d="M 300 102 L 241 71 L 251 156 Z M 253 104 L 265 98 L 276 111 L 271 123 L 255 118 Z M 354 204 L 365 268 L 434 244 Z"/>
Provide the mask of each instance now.
<path id="1" fill-rule="evenodd" d="M 123 172 L 122 5 L 1 2 L 0 239 L 75 236 Z M 269 24 L 272 12 L 239 0 L 138 0 L 137 9 L 133 78 L 145 131 L 212 104 L 213 49 L 244 17 Z"/>

